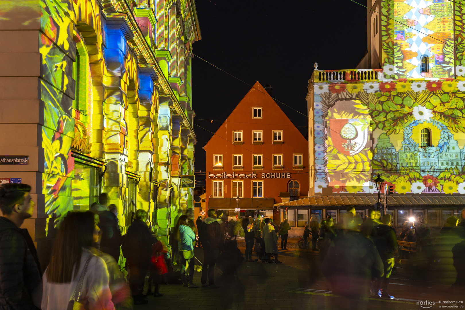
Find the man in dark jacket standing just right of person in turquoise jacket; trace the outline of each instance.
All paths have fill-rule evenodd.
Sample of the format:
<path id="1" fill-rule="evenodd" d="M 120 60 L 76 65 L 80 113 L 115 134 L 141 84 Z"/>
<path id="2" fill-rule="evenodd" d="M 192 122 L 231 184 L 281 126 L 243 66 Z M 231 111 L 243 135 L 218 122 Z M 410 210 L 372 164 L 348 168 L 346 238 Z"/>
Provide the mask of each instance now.
<path id="1" fill-rule="evenodd" d="M 221 244 L 221 227 L 215 218 L 215 209 L 207 212 L 208 218 L 200 226 L 199 239 L 204 249 L 204 263 L 200 283 L 202 287 L 217 288 L 214 280 L 215 264 L 218 259 Z M 208 275 L 208 284 L 207 284 Z"/>

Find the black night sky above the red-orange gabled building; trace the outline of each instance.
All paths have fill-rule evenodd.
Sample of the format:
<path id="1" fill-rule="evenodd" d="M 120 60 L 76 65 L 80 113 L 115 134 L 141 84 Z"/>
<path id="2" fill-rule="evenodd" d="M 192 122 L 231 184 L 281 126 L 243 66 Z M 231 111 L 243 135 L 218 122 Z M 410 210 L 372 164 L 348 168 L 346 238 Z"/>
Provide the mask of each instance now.
<path id="1" fill-rule="evenodd" d="M 350 0 L 197 0 L 196 7 L 202 40 L 194 54 L 249 85 L 270 84 L 274 98 L 304 114 L 315 61 L 320 70 L 352 69 L 367 48 L 366 8 Z M 194 124 L 211 132 L 251 88 L 198 57 L 192 79 Z M 306 117 L 278 105 L 306 136 Z M 195 170 L 205 172 L 202 147 L 213 134 L 197 125 Z M 196 180 L 205 185 L 205 174 Z"/>

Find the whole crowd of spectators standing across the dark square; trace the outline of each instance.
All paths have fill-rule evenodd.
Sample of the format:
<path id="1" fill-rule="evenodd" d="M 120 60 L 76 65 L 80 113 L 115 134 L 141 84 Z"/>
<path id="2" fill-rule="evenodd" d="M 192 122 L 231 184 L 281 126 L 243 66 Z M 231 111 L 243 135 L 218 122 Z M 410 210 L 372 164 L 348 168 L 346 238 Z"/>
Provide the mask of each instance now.
<path id="1" fill-rule="evenodd" d="M 252 259 L 257 248 L 264 252 L 263 262 L 281 264 L 278 236 L 281 250 L 286 251 L 291 229 L 287 219 L 279 226 L 261 215 L 228 221 L 214 209 L 194 223 L 193 211 L 188 209 L 173 227 L 171 260 L 167 244 L 157 240 L 147 224 L 146 211 L 134 212 L 122 235 L 116 206 L 107 205 L 107 195 L 101 194 L 89 211 L 70 211 L 62 219 L 49 264 L 42 272 L 33 240 L 27 229 L 20 228 L 33 214 L 30 191 L 26 184 L 0 186 L 1 309 L 132 309 L 147 303 L 147 295 L 163 296 L 159 284 L 168 281 L 169 271 L 175 275 L 174 282 L 180 279 L 183 287 L 196 289 L 194 270 L 201 270 L 200 286 L 218 288 L 215 266 L 229 279 L 226 283 L 233 283 L 241 261 L 257 261 Z M 461 218 L 447 218 L 438 237 L 430 236 L 424 218 L 404 223 L 399 235 L 391 220 L 389 214 L 370 210 L 362 222 L 350 207 L 337 224 L 331 216 L 321 222 L 312 216 L 304 228 L 306 245 L 312 235 L 312 249 L 319 250 L 321 269 L 332 292 L 351 300 L 338 309 L 363 309 L 368 294 L 394 298 L 388 284 L 399 240 L 417 244 L 416 265 L 427 270 L 423 272 L 427 277 L 444 287 L 465 286 L 465 211 Z M 245 258 L 235 240 L 242 234 Z M 203 262 L 195 257 L 196 245 L 203 250 Z"/>

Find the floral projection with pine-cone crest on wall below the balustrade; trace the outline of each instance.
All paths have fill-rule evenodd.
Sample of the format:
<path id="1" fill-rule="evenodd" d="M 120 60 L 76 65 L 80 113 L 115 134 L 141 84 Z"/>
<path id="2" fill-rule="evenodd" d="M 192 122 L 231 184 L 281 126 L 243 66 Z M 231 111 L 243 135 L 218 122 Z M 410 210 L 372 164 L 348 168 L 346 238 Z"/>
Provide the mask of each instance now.
<path id="1" fill-rule="evenodd" d="M 465 194 L 465 81 L 314 87 L 315 192 Z"/>

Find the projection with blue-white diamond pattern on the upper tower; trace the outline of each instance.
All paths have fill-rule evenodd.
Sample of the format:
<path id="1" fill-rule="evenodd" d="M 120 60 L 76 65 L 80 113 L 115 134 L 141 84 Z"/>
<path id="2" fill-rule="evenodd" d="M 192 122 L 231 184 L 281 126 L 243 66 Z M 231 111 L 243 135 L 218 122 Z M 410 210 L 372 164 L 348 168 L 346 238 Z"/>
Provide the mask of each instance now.
<path id="1" fill-rule="evenodd" d="M 460 11 L 456 8 L 456 13 Z M 381 13 L 390 17 L 381 16 L 385 79 L 453 77 L 452 1 L 386 0 L 381 3 Z M 461 19 L 457 21 L 461 26 Z M 423 57 L 427 57 L 428 72 L 421 70 Z M 462 76 L 465 59 L 460 56 L 459 62 L 457 71 Z"/>

